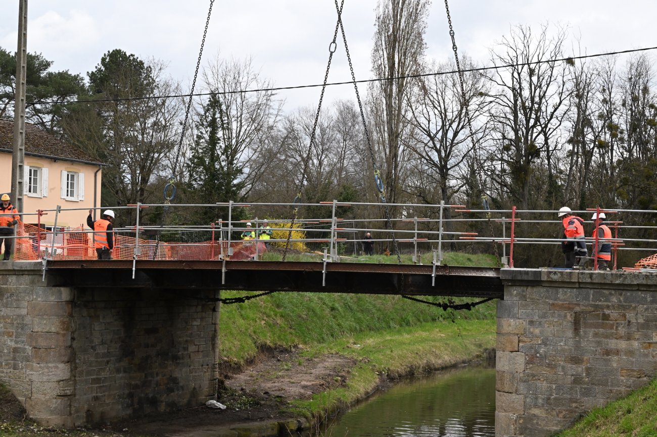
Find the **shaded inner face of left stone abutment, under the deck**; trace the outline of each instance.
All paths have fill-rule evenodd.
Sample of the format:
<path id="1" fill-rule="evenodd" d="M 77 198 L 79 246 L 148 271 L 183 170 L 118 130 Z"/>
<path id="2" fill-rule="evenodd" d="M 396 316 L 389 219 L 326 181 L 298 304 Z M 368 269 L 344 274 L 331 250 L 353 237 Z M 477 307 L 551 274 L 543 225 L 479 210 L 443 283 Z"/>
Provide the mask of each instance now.
<path id="1" fill-rule="evenodd" d="M 196 407 L 217 389 L 214 292 L 80 289 L 74 425 Z"/>

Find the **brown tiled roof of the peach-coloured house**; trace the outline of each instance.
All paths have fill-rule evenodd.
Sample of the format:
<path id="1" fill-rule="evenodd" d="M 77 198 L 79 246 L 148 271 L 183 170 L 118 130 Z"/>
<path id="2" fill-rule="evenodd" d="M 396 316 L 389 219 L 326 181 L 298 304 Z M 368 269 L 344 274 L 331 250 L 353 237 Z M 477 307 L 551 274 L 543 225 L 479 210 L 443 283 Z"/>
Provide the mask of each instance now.
<path id="1" fill-rule="evenodd" d="M 0 119 L 0 152 L 12 152 L 14 148 L 14 121 Z M 51 156 L 68 161 L 101 164 L 82 150 L 41 131 L 35 125 L 25 123 L 25 154 Z"/>

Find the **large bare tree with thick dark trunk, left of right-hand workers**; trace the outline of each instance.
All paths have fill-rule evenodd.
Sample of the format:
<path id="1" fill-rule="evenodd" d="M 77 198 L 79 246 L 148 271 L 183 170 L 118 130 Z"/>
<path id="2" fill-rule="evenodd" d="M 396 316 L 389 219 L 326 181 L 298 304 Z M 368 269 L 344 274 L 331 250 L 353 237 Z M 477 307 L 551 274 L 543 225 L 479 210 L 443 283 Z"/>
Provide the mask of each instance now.
<path id="1" fill-rule="evenodd" d="M 493 64 L 501 68 L 487 74 L 496 85 L 489 113 L 495 142 L 492 156 L 501 156 L 502 163 L 501 171 L 491 172 L 489 177 L 523 208 L 529 206 L 532 177 L 541 154 L 551 156 L 561 146 L 560 127 L 568 110 L 568 65 L 545 62 L 562 57 L 566 32 L 559 28 L 549 38 L 547 30 L 543 26 L 534 35 L 528 27 L 512 29 L 497 51 L 491 52 Z"/>

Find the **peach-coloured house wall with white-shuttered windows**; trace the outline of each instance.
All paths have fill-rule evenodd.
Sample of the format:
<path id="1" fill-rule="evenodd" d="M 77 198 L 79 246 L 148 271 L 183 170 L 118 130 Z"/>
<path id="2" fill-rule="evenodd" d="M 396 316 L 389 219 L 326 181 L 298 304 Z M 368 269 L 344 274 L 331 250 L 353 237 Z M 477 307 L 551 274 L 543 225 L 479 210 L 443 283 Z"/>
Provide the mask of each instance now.
<path id="1" fill-rule="evenodd" d="M 24 222 L 36 224 L 38 209 L 48 210 L 56 209 L 57 205 L 62 207 L 62 212 L 57 217 L 57 226 L 76 228 L 81 224 L 86 224 L 88 210 L 101 205 L 101 177 L 102 170 L 99 165 L 83 164 L 64 159 L 52 159 L 45 157 L 25 156 L 25 167 L 35 167 L 40 169 L 39 175 L 44 174 L 43 169 L 47 172 L 47 184 L 39 180 L 38 194 L 23 194 Z M 82 175 L 83 192 L 76 190 L 78 196 L 74 198 L 62 198 L 62 171 Z M 98 172 L 98 173 L 96 173 Z M 94 184 L 95 180 L 95 184 Z M 24 178 L 24 186 L 28 181 Z M 96 186 L 94 196 L 94 185 Z M 47 188 L 47 190 L 43 190 Z M 78 184 L 79 189 L 79 184 Z M 0 193 L 9 193 L 11 191 L 11 154 L 0 153 Z M 82 196 L 79 196 L 82 194 Z M 12 199 L 12 203 L 14 199 Z M 75 211 L 66 211 L 77 209 Z M 97 214 L 96 217 L 99 217 Z M 41 216 L 41 223 L 46 226 L 55 224 L 55 211 L 48 211 L 47 215 Z"/>

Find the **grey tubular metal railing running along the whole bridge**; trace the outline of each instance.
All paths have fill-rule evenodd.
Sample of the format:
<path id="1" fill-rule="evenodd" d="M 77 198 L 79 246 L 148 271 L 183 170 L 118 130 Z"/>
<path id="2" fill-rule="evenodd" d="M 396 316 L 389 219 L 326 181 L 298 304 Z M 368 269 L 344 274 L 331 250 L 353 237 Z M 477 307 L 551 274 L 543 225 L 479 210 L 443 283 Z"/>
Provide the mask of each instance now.
<path id="1" fill-rule="evenodd" d="M 153 260 L 250 260 L 262 259 L 263 255 L 274 247 L 285 245 L 296 247 L 299 251 L 326 255 L 323 259 L 329 262 L 346 260 L 348 254 L 354 257 L 361 256 L 361 245 L 365 232 L 373 232 L 376 238 L 371 241 L 379 245 L 378 252 L 388 251 L 394 253 L 394 246 L 407 256 L 408 262 L 420 263 L 420 254 L 430 252 L 433 255 L 433 264 L 442 264 L 443 245 L 480 244 L 495 246 L 495 253 L 499 256 L 501 264 L 514 266 L 514 247 L 516 245 L 558 245 L 563 241 L 556 232 L 556 238 L 536 238 L 518 235 L 517 225 L 522 224 L 555 224 L 560 229 L 561 220 L 535 219 L 535 215 L 556 217 L 557 211 L 550 210 L 518 210 L 515 207 L 509 210 L 473 210 L 464 209 L 463 205 L 424 205 L 424 204 L 389 204 L 397 209 L 399 218 L 363 218 L 366 213 L 376 213 L 380 209 L 378 203 L 343 203 L 338 201 L 321 203 L 216 203 L 209 205 L 198 204 L 137 204 L 126 207 L 112 207 L 114 210 L 130 210 L 134 217 L 134 224 L 115 228 L 116 245 L 113 253 L 115 259 L 153 259 Z M 217 220 L 211 224 L 191 224 L 187 226 L 168 224 L 144 224 L 143 211 L 147 208 L 191 208 L 212 207 L 227 210 L 227 220 Z M 268 218 L 273 238 L 261 238 L 262 222 L 264 218 L 254 217 L 253 211 L 267 211 L 278 208 L 312 208 L 317 217 L 297 218 L 294 228 L 290 229 L 290 218 Z M 249 219 L 234 220 L 237 209 L 249 209 Z M 104 208 L 103 208 L 104 209 Z M 84 226 L 78 228 L 61 228 L 57 226 L 57 218 L 62 211 L 88 211 L 88 209 L 62 209 L 41 210 L 37 213 L 24 214 L 25 220 L 35 221 L 34 224 L 20 224 L 16 232 L 15 259 L 95 259 L 95 245 L 93 230 Z M 97 208 L 101 210 L 101 208 Z M 364 212 L 365 211 L 365 212 Z M 574 211 L 574 213 L 590 214 L 594 211 L 604 212 L 608 215 L 622 213 L 657 213 L 653 210 L 604 210 L 587 209 Z M 425 213 L 426 217 L 417 217 Z M 54 213 L 55 222 L 44 229 L 41 224 L 41 215 Z M 346 217 L 339 217 L 346 213 Z M 267 215 L 263 213 L 263 215 Z M 379 216 L 380 217 L 380 216 Z M 244 241 L 239 234 L 243 232 L 247 221 L 253 222 L 253 232 L 256 239 Z M 585 220 L 593 224 L 592 220 Z M 614 238 L 608 239 L 614 252 L 623 250 L 652 251 L 657 253 L 657 239 L 648 238 L 619 238 L 619 230 L 650 229 L 657 226 L 625 225 L 622 221 L 606 222 L 615 232 Z M 392 229 L 391 229 L 392 228 Z M 482 232 L 483 231 L 483 232 Z M 291 234 L 290 234 L 291 233 Z M 189 238 L 193 234 L 194 238 Z M 181 240 L 172 241 L 171 236 Z M 166 241 L 165 241 L 166 240 Z M 598 238 L 587 238 L 591 244 L 593 259 L 597 262 Z M 351 249 L 353 248 L 353 253 Z M 499 249 L 499 251 L 497 250 Z M 508 251 L 507 251 L 508 249 Z M 508 253 L 508 255 L 507 255 Z M 408 258 L 405 258 L 407 260 Z M 657 267 L 655 262 L 654 267 Z M 616 268 L 616 264 L 614 264 Z"/>

